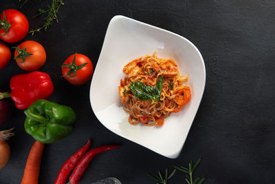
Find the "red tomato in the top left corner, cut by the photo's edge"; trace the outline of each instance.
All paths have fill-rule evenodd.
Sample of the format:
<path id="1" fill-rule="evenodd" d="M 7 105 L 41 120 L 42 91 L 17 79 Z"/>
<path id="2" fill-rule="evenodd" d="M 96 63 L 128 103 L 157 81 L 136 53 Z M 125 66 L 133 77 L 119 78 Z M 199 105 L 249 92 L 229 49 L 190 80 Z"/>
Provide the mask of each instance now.
<path id="1" fill-rule="evenodd" d="M 14 9 L 1 12 L 0 25 L 0 38 L 8 43 L 21 41 L 29 31 L 28 19 L 24 14 Z"/>

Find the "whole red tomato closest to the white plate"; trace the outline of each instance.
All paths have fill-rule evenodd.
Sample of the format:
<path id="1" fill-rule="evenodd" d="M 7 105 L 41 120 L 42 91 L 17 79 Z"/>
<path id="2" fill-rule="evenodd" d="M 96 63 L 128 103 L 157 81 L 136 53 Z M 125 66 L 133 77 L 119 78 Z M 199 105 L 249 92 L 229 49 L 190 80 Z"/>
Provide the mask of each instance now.
<path id="1" fill-rule="evenodd" d="M 91 60 L 83 54 L 72 54 L 62 65 L 64 78 L 74 85 L 82 85 L 89 81 L 93 71 Z"/>

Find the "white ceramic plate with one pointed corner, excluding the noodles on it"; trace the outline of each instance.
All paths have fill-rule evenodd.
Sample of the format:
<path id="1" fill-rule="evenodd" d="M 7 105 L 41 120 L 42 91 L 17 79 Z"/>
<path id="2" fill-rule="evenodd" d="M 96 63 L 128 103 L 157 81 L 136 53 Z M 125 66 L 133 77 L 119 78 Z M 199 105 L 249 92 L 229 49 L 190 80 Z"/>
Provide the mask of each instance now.
<path id="1" fill-rule="evenodd" d="M 126 63 L 157 52 L 160 58 L 174 59 L 192 99 L 177 114 L 165 119 L 162 127 L 130 125 L 124 112 L 118 85 L 124 79 Z M 123 16 L 111 19 L 100 57 L 91 81 L 90 101 L 98 120 L 109 130 L 171 159 L 177 158 L 195 118 L 206 83 L 206 70 L 199 50 L 190 41 L 173 32 Z"/>

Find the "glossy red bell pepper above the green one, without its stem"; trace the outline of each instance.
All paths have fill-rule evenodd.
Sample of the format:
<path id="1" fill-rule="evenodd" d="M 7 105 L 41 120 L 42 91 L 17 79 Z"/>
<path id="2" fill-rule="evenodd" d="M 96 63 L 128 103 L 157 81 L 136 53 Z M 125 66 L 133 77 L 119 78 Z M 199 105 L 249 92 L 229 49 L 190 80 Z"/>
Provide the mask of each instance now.
<path id="1" fill-rule="evenodd" d="M 28 108 L 38 99 L 47 99 L 54 92 L 54 85 L 45 72 L 17 74 L 10 79 L 10 97 L 20 110 Z"/>

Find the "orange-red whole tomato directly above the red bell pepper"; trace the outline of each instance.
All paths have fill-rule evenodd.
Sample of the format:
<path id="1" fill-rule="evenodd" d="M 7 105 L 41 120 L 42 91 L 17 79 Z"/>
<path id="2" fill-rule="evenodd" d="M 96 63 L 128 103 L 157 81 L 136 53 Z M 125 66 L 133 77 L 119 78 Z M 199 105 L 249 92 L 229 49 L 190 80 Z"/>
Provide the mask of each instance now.
<path id="1" fill-rule="evenodd" d="M 46 61 L 46 52 L 43 46 L 36 41 L 24 41 L 14 51 L 17 65 L 28 72 L 38 70 Z"/>

